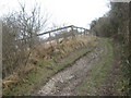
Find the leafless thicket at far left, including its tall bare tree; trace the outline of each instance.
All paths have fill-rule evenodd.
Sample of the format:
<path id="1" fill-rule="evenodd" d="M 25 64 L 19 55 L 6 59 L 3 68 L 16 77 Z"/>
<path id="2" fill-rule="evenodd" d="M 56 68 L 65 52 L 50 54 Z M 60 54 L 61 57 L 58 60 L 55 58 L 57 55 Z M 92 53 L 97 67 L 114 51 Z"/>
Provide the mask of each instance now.
<path id="1" fill-rule="evenodd" d="M 35 44 L 39 41 L 37 34 L 47 23 L 47 15 L 41 16 L 40 5 L 37 3 L 29 11 L 22 3 L 20 8 L 19 12 L 12 12 L 2 19 L 3 77 L 27 64 Z"/>

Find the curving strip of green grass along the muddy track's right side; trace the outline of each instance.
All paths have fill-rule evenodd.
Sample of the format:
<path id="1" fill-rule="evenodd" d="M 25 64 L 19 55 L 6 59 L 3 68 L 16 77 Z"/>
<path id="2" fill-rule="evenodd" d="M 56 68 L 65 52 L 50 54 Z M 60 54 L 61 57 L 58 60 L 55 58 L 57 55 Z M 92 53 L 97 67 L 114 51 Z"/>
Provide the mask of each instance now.
<path id="1" fill-rule="evenodd" d="M 106 78 L 109 64 L 112 61 L 112 47 L 108 39 L 100 39 L 105 48 L 107 48 L 107 53 L 103 56 L 99 63 L 93 66 L 92 71 L 88 73 L 88 79 L 78 87 L 78 93 L 80 96 L 97 95 L 99 91 L 98 87 Z"/>

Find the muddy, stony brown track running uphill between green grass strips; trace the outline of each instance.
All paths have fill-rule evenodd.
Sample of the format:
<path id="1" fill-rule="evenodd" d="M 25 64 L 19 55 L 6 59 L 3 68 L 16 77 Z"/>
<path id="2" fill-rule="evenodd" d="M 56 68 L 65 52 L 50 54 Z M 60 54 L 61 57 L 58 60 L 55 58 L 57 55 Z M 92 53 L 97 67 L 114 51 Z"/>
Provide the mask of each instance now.
<path id="1" fill-rule="evenodd" d="M 103 58 L 107 49 L 102 41 L 98 42 L 96 49 L 82 57 L 70 68 L 57 73 L 45 86 L 43 86 L 37 95 L 39 96 L 76 96 L 75 88 L 81 85 L 94 65 Z"/>

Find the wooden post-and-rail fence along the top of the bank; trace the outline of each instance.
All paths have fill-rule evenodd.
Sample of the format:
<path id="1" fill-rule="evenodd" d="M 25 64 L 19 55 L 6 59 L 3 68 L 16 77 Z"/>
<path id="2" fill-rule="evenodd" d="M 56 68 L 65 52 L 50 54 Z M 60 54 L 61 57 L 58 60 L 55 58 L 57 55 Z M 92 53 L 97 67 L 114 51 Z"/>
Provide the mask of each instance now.
<path id="1" fill-rule="evenodd" d="M 57 29 L 52 29 L 52 30 L 48 30 L 45 33 L 40 33 L 37 34 L 35 36 L 33 36 L 32 38 L 26 38 L 28 39 L 34 39 L 35 37 L 46 37 L 44 40 L 45 41 L 52 41 L 52 40 L 57 40 L 57 44 L 60 42 L 63 39 L 67 38 L 75 38 L 75 36 L 92 36 L 92 34 L 90 33 L 88 29 L 84 28 L 84 27 L 78 27 L 74 25 L 70 25 L 70 26 L 64 26 L 64 27 L 60 27 Z M 25 39 L 19 39 L 19 40 L 25 40 Z"/>

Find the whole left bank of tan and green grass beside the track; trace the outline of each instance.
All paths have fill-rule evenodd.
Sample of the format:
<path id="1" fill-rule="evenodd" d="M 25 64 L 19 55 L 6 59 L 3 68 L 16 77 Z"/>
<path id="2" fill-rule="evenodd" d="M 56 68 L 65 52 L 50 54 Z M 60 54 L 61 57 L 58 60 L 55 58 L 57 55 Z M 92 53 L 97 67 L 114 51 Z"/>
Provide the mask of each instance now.
<path id="1" fill-rule="evenodd" d="M 56 73 L 94 50 L 97 42 L 96 37 L 78 37 L 53 47 L 41 45 L 33 51 L 26 68 L 21 69 L 21 75 L 14 73 L 3 79 L 3 95 L 31 95 Z"/>

